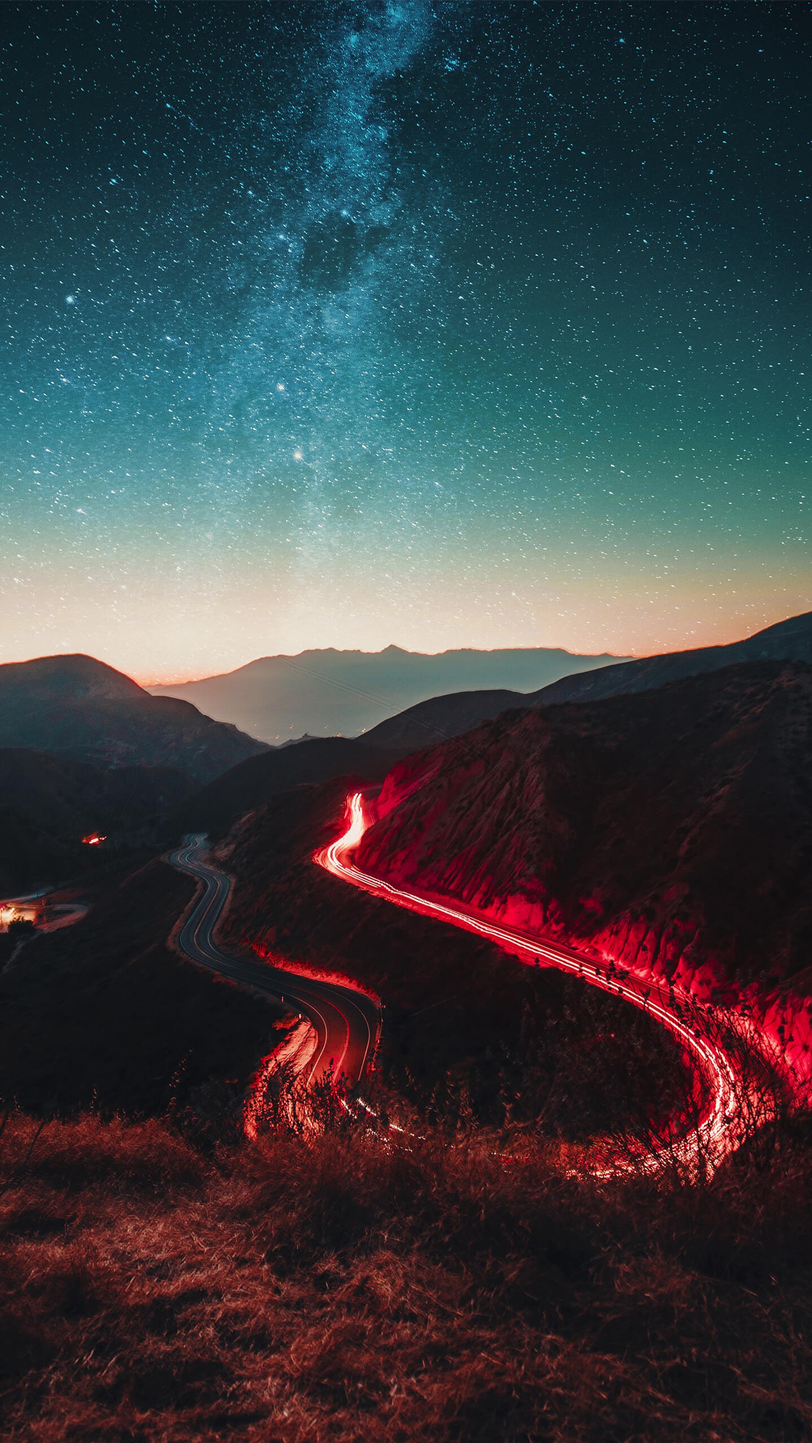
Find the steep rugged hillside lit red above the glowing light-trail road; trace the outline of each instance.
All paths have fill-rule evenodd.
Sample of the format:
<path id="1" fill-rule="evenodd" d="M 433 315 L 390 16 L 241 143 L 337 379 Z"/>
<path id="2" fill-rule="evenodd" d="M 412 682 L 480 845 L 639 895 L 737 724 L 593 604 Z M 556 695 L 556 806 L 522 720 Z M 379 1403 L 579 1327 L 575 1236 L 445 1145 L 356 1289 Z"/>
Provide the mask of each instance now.
<path id="1" fill-rule="evenodd" d="M 359 861 L 632 965 L 812 961 L 812 668 L 509 711 L 388 776 Z"/>

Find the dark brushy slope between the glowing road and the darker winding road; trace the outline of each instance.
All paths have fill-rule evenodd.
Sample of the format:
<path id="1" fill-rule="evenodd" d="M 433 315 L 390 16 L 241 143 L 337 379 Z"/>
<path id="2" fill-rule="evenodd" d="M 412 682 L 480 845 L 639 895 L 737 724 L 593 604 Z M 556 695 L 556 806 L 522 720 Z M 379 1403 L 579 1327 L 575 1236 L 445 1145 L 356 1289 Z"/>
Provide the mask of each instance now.
<path id="1" fill-rule="evenodd" d="M 312 857 L 361 778 L 284 792 L 222 843 L 237 877 L 222 932 L 350 977 L 384 1004 L 376 1076 L 434 1114 L 509 1114 L 581 1136 L 674 1105 L 681 1068 L 656 1023 L 483 938 L 348 887 Z"/>

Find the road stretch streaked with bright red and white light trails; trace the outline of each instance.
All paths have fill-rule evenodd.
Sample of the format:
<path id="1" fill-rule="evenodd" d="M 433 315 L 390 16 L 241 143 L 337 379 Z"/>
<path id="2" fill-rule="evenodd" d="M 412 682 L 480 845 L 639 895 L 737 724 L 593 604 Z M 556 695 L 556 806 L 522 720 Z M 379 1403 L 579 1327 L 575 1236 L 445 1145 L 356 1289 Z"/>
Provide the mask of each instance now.
<path id="1" fill-rule="evenodd" d="M 551 967 L 574 973 L 593 987 L 625 997 L 633 1006 L 650 1013 L 689 1049 L 707 1079 L 707 1104 L 697 1127 L 676 1144 L 669 1144 L 668 1154 L 675 1156 L 688 1167 L 695 1167 L 702 1162 L 712 1170 L 727 1153 L 738 1146 L 743 1136 L 743 1123 L 738 1115 L 741 1089 L 737 1088 L 737 1078 L 724 1048 L 702 1033 L 698 1014 L 687 1020 L 685 1013 L 691 1014 L 692 1007 L 695 1010 L 695 1004 L 687 994 L 675 994 L 653 981 L 643 981 L 630 974 L 625 974 L 623 980 L 616 975 L 610 977 L 594 958 L 584 957 L 570 947 L 561 947 L 544 937 L 503 926 L 459 902 L 454 905 L 438 902 L 418 892 L 395 887 L 391 882 L 369 872 L 361 872 L 352 859 L 369 825 L 371 818 L 365 810 L 363 795 L 355 792 L 348 797 L 345 831 L 329 847 L 316 851 L 313 861 L 343 882 L 385 898 L 397 906 L 438 918 L 443 922 L 453 922 L 454 926 L 462 926 L 469 932 L 479 932 L 519 957 L 531 961 L 539 958 Z M 646 1159 L 642 1162 L 648 1165 Z M 656 1166 L 656 1156 L 652 1156 L 649 1162 L 650 1166 Z"/>

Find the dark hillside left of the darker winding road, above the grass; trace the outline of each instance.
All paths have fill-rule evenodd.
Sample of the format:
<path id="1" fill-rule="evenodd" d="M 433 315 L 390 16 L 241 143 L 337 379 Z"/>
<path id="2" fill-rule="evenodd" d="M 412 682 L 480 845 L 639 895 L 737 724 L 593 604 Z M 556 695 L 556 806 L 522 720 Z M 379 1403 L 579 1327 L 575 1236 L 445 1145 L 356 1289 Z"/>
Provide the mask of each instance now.
<path id="1" fill-rule="evenodd" d="M 82 921 L 27 944 L 0 977 L 1 1098 L 143 1115 L 231 1079 L 237 1105 L 283 1009 L 170 949 L 193 893 L 150 861 L 108 883 Z"/>

